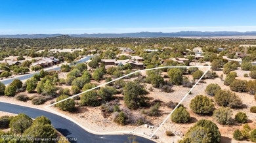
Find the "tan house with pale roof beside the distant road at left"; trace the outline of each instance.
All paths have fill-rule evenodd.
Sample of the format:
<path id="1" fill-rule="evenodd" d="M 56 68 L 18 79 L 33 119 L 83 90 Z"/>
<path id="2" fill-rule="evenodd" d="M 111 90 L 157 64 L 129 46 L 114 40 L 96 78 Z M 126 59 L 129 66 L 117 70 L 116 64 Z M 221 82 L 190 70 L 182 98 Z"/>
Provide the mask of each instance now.
<path id="1" fill-rule="evenodd" d="M 38 61 L 35 61 L 35 63 L 32 63 L 31 66 L 51 67 L 58 63 L 60 63 L 60 61 L 54 57 L 43 57 Z"/>

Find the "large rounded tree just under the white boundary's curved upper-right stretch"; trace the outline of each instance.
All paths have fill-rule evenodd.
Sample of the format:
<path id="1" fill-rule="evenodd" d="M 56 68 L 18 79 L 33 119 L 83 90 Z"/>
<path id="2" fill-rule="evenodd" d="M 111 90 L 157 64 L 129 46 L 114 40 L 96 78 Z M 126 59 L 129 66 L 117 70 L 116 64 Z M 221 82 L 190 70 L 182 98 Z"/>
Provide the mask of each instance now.
<path id="1" fill-rule="evenodd" d="M 181 69 L 171 68 L 168 71 L 168 75 L 170 77 L 170 82 L 175 85 L 181 85 L 183 77 Z"/>

